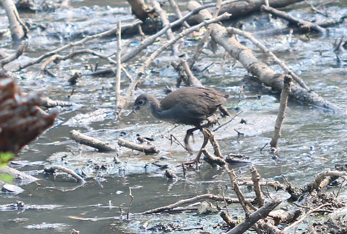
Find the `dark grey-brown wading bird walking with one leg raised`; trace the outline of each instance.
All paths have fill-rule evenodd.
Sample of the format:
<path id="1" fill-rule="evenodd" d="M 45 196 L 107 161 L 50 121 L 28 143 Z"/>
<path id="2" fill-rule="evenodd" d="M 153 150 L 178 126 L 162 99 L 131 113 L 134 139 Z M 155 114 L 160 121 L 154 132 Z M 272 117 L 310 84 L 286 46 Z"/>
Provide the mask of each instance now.
<path id="1" fill-rule="evenodd" d="M 142 94 L 138 96 L 133 105 L 133 113 L 139 109 L 150 109 L 155 118 L 164 120 L 173 124 L 187 124 L 195 126 L 188 129 L 184 143 L 186 150 L 193 153 L 189 146 L 189 137 L 195 130 L 200 130 L 204 135 L 204 148 L 208 142 L 207 133 L 204 128 L 210 127 L 215 123 L 211 116 L 217 108 L 227 101 L 228 95 L 221 95 L 217 91 L 203 87 L 184 87 L 168 94 L 159 101 L 151 94 Z M 201 122 L 208 122 L 201 125 Z M 199 157 L 195 162 L 199 161 Z"/>

